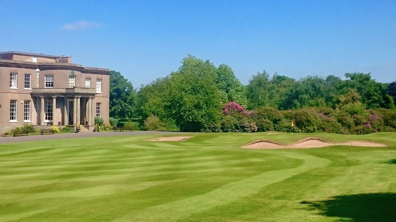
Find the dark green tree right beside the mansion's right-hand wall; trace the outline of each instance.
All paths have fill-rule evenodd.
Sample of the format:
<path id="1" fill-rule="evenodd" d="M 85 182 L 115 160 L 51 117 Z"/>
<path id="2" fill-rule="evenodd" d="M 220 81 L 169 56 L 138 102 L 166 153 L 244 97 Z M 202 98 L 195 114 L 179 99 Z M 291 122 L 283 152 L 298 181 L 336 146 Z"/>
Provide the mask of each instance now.
<path id="1" fill-rule="evenodd" d="M 136 90 L 118 71 L 110 74 L 110 117 L 128 119 L 135 110 Z"/>

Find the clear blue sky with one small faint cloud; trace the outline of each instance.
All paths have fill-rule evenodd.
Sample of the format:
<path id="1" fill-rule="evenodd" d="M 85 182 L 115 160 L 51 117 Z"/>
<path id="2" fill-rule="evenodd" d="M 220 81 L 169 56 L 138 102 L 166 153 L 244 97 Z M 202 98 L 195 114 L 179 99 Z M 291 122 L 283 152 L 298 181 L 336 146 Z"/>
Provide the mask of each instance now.
<path id="1" fill-rule="evenodd" d="M 247 84 L 267 70 L 307 75 L 371 72 L 396 80 L 393 1 L 7 1 L 0 51 L 67 55 L 120 71 L 134 87 L 192 54 L 228 64 Z"/>

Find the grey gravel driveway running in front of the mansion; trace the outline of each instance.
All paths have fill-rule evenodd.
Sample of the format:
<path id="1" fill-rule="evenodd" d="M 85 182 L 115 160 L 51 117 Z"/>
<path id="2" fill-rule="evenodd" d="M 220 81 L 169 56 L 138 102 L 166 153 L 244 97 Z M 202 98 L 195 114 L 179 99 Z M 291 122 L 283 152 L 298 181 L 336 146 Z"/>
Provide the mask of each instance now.
<path id="1" fill-rule="evenodd" d="M 19 143 L 30 141 L 41 141 L 50 139 L 71 139 L 71 138 L 86 138 L 86 137 L 103 137 L 103 136 L 117 136 L 117 135 L 164 135 L 164 134 L 183 134 L 182 132 L 156 132 L 156 131 L 134 131 L 134 132 L 85 132 L 85 133 L 70 133 L 70 134 L 45 134 L 45 135 L 28 135 L 15 137 L 0 137 L 0 144 L 4 143 Z"/>

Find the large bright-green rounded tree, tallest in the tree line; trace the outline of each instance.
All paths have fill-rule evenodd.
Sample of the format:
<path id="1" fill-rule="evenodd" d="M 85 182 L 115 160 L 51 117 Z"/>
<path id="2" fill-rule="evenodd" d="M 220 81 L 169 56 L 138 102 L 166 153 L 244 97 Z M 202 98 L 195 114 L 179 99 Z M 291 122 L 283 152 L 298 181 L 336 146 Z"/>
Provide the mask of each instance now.
<path id="1" fill-rule="evenodd" d="M 216 132 L 220 129 L 221 108 L 227 94 L 216 84 L 217 68 L 188 55 L 176 72 L 171 73 L 165 90 L 164 109 L 182 131 Z M 223 104 L 223 105 L 222 105 Z"/>

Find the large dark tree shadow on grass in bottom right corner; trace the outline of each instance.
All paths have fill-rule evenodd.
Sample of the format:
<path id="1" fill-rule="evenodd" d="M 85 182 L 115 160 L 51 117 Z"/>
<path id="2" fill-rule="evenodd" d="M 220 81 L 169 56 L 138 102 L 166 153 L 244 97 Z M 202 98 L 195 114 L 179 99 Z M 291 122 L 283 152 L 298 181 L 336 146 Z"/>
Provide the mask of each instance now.
<path id="1" fill-rule="evenodd" d="M 320 215 L 344 218 L 336 221 L 396 221 L 394 193 L 335 196 L 324 201 L 302 201 L 301 204 L 307 204 L 310 210 L 319 210 Z"/>

